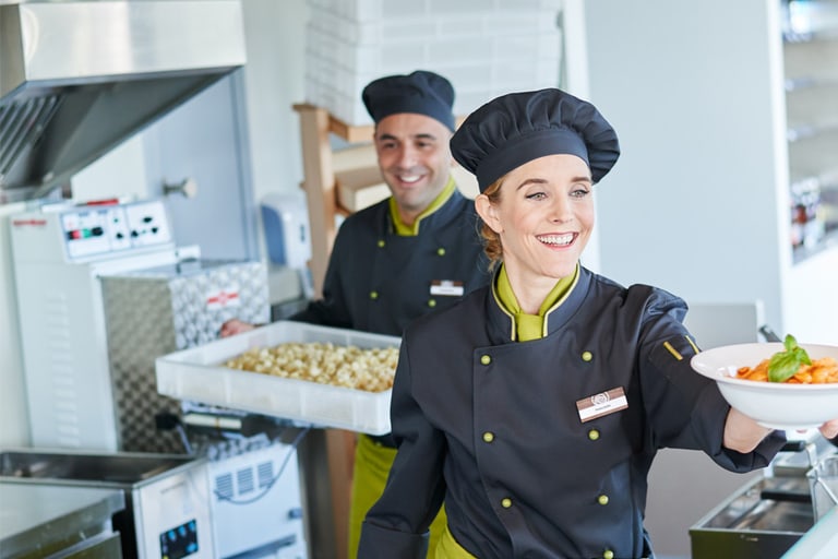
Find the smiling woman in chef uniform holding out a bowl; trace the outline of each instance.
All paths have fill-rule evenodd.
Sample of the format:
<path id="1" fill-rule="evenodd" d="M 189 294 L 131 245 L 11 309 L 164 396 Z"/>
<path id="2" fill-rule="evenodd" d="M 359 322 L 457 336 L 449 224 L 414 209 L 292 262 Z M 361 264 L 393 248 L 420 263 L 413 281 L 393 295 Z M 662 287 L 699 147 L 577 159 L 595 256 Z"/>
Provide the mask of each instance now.
<path id="1" fill-rule="evenodd" d="M 768 465 L 785 442 L 695 373 L 686 305 L 579 265 L 592 186 L 620 153 L 590 104 L 559 90 L 499 97 L 452 139 L 477 176 L 492 284 L 418 319 L 392 401 L 398 453 L 359 557 L 651 557 L 643 526 L 658 449 Z M 838 421 L 822 427 L 835 436 Z"/>

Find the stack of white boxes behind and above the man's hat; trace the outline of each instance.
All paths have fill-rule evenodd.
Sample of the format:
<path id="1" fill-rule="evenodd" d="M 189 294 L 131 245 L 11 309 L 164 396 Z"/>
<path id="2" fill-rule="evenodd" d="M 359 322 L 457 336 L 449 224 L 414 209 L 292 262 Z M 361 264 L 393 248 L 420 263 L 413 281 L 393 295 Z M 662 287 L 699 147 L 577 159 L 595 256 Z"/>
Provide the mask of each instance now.
<path id="1" fill-rule="evenodd" d="M 388 74 L 432 70 L 454 85 L 454 112 L 560 85 L 563 0 L 309 0 L 306 100 L 370 123 L 360 93 Z"/>

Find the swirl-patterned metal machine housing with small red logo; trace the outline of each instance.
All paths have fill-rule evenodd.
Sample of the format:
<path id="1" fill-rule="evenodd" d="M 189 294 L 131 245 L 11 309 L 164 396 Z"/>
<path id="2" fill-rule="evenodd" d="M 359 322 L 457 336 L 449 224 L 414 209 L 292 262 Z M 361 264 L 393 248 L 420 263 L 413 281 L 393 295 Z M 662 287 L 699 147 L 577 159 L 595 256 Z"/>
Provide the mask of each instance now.
<path id="1" fill-rule="evenodd" d="M 270 321 L 261 262 L 202 261 L 101 278 L 119 448 L 183 452 L 155 415 L 179 415 L 180 401 L 157 393 L 155 358 L 216 340 L 231 318 Z"/>

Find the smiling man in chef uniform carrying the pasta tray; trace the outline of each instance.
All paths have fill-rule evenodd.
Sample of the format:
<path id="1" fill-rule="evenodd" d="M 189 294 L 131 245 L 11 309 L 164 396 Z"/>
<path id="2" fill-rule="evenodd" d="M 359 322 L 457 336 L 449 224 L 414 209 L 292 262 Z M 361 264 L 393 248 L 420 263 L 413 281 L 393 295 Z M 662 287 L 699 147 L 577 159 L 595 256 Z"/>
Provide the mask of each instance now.
<path id="1" fill-rule="evenodd" d="M 346 218 L 323 298 L 291 320 L 400 336 L 417 317 L 487 285 L 488 259 L 474 202 L 451 176 L 451 83 L 422 70 L 390 75 L 367 85 L 362 100 L 375 122 L 373 142 L 391 197 Z M 252 328 L 234 320 L 222 335 Z M 395 453 L 390 435 L 358 437 L 349 557 L 356 557 L 361 522 L 384 489 Z M 441 513 L 431 526 L 432 540 L 444 525 Z"/>

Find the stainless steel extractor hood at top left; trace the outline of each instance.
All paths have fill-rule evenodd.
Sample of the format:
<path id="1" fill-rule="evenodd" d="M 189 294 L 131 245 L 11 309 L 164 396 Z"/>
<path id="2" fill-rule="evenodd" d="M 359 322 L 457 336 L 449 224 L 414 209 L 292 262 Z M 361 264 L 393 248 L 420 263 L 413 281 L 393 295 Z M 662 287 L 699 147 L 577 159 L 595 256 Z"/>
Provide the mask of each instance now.
<path id="1" fill-rule="evenodd" d="M 0 0 L 0 203 L 45 197 L 244 61 L 240 0 Z"/>

